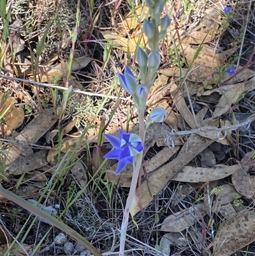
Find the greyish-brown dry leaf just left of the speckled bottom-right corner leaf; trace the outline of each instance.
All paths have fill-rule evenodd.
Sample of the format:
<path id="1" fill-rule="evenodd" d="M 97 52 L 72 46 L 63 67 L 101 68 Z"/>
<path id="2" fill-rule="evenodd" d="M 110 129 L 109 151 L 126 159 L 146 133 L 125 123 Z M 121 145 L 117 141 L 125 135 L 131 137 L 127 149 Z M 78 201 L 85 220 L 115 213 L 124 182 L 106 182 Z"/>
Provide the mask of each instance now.
<path id="1" fill-rule="evenodd" d="M 166 217 L 161 225 L 160 231 L 181 232 L 194 225 L 201 216 L 205 216 L 205 205 L 203 203 L 189 207 Z"/>

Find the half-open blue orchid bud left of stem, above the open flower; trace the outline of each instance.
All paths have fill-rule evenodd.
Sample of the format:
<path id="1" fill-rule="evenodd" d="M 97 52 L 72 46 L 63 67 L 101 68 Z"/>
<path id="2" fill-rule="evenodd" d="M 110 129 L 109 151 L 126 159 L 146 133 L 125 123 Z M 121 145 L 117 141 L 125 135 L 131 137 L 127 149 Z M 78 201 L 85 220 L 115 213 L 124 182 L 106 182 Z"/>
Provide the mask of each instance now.
<path id="1" fill-rule="evenodd" d="M 133 72 L 128 66 L 126 66 L 124 74 L 119 74 L 120 86 L 122 86 L 125 91 L 131 95 L 134 95 L 136 92 L 137 81 Z"/>

